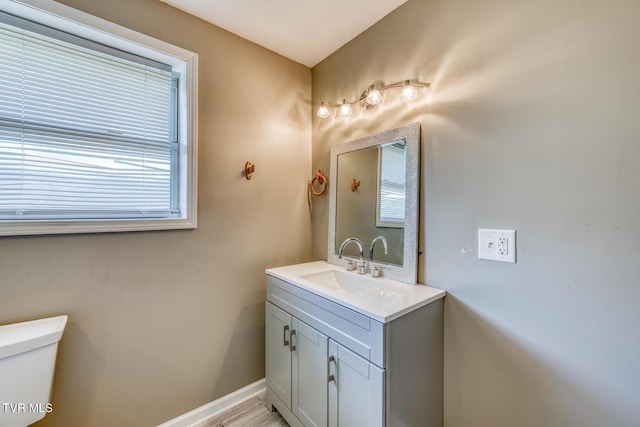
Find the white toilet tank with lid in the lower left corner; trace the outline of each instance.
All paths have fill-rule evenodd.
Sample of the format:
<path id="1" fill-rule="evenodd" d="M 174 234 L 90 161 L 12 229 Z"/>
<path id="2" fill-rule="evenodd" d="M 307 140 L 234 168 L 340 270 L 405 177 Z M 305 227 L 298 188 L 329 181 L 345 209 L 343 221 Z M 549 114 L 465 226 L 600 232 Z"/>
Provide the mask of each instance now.
<path id="1" fill-rule="evenodd" d="M 25 427 L 50 403 L 58 341 L 67 316 L 0 326 L 0 426 Z"/>

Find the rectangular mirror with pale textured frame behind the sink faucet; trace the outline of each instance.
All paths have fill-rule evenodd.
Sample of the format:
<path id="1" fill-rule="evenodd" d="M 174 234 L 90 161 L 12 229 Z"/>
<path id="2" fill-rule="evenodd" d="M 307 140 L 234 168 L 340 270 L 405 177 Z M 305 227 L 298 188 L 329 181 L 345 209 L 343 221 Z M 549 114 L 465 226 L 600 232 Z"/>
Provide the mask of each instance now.
<path id="1" fill-rule="evenodd" d="M 418 257 L 418 195 L 420 123 L 411 123 L 331 148 L 329 239 L 327 260 L 347 265 L 359 259 L 356 245 L 342 242 L 356 237 L 370 262 L 371 242 L 387 241 L 388 254 L 377 242 L 373 264 L 382 276 L 415 284 Z"/>

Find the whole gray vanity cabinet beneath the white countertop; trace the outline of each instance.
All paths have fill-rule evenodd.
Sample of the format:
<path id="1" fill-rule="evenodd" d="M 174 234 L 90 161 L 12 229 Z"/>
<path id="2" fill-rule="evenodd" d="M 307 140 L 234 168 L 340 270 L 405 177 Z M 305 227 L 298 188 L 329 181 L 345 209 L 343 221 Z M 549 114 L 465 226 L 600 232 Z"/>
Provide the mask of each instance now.
<path id="1" fill-rule="evenodd" d="M 388 323 L 267 275 L 267 403 L 292 426 L 442 426 L 442 299 Z"/>

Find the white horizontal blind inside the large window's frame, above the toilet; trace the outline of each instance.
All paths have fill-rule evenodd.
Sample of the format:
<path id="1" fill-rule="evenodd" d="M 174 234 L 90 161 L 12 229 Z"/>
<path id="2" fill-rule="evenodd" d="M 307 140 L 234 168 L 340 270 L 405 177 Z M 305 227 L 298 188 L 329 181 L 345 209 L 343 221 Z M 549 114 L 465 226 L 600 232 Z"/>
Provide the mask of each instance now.
<path id="1" fill-rule="evenodd" d="M 170 66 L 0 14 L 0 220 L 170 218 Z"/>

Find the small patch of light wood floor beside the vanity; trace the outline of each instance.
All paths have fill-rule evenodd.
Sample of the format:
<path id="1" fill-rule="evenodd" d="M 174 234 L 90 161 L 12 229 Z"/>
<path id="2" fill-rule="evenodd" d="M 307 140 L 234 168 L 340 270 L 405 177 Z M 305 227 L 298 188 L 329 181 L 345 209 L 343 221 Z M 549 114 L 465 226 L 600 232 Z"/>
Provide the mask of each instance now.
<path id="1" fill-rule="evenodd" d="M 197 427 L 289 427 L 279 413 L 267 409 L 262 392 Z"/>

